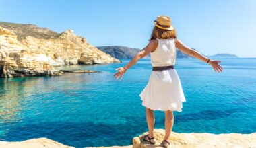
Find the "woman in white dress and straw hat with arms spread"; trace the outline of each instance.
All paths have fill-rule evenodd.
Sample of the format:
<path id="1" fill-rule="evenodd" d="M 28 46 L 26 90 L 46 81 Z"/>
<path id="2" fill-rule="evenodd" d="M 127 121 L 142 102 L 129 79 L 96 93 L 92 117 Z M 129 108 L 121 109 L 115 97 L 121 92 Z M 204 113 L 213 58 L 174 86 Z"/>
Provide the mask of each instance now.
<path id="1" fill-rule="evenodd" d="M 148 123 L 148 135 L 142 137 L 143 141 L 151 144 L 156 143 L 154 139 L 154 112 L 162 110 L 165 112 L 165 137 L 162 141 L 163 147 L 168 147 L 170 133 L 174 122 L 173 111 L 181 112 L 185 96 L 181 87 L 181 82 L 176 70 L 174 69 L 176 59 L 176 48 L 195 57 L 205 63 L 210 64 L 214 71 L 221 72 L 223 68 L 219 65 L 220 61 L 208 59 L 196 50 L 185 46 L 181 40 L 177 39 L 172 20 L 167 16 L 158 16 L 154 21 L 154 29 L 148 45 L 143 48 L 127 65 L 119 67 L 115 78 L 120 80 L 131 66 L 139 59 L 151 54 L 152 73 L 148 84 L 139 96 L 142 105 L 146 107 L 146 118 Z"/>

